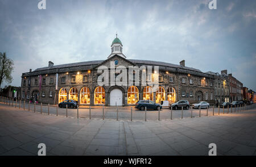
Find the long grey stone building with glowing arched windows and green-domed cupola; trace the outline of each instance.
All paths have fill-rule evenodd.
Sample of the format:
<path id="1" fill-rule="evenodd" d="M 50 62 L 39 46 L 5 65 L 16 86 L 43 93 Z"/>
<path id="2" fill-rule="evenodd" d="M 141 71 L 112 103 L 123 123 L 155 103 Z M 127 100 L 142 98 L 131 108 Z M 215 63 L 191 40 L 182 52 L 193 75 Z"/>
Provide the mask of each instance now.
<path id="1" fill-rule="evenodd" d="M 21 94 L 26 101 L 43 103 L 59 103 L 65 99 L 74 99 L 80 105 L 127 106 L 135 105 L 141 99 L 150 99 L 156 103 L 180 99 L 189 102 L 207 101 L 214 103 L 214 76 L 199 69 L 185 66 L 185 60 L 179 65 L 167 62 L 126 59 L 122 52 L 122 42 L 115 37 L 111 45 L 111 53 L 106 60 L 76 62 L 54 65 L 49 61 L 47 67 L 22 74 Z M 99 66 L 110 64 L 115 68 L 125 66 L 128 74 L 129 66 L 159 66 L 159 87 L 153 91 L 151 86 L 142 83 L 135 86 L 100 86 L 97 79 L 101 73 Z M 141 81 L 141 70 L 139 77 Z M 115 73 L 117 77 L 119 73 Z M 155 75 L 152 72 L 152 75 Z M 133 79 L 135 78 L 135 73 Z"/>

